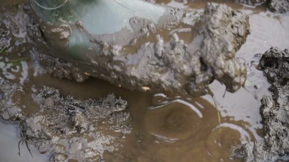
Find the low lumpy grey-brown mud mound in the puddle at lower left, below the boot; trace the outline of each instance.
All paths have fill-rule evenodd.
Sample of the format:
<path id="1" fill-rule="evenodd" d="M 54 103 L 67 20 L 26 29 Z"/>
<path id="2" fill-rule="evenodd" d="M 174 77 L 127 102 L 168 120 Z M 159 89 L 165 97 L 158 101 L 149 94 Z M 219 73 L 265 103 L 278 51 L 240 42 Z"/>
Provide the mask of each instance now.
<path id="1" fill-rule="evenodd" d="M 53 162 L 100 161 L 104 151 L 121 149 L 131 132 L 130 114 L 122 111 L 127 102 L 113 94 L 75 100 L 52 87 L 4 81 L 0 96 L 0 117 L 19 121 L 24 137 Z"/>

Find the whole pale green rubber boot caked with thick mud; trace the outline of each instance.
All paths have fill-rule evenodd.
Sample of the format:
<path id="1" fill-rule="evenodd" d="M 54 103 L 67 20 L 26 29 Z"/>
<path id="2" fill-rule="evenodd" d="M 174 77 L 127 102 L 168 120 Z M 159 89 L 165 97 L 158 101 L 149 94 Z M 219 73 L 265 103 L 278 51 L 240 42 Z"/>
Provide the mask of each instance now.
<path id="1" fill-rule="evenodd" d="M 130 90 L 193 96 L 207 94 L 214 79 L 230 92 L 245 82 L 235 52 L 249 33 L 248 17 L 226 5 L 208 3 L 202 13 L 143 0 L 29 1 L 49 46 L 36 44 L 40 60 L 60 78 L 90 75 Z"/>

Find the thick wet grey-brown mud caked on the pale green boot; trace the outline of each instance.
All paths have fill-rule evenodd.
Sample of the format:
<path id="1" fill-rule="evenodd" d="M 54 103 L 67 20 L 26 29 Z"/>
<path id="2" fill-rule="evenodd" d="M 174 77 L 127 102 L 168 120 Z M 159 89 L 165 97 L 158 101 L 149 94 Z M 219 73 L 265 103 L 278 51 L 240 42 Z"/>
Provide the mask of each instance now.
<path id="1" fill-rule="evenodd" d="M 125 36 L 125 33 L 116 33 L 116 38 L 127 38 L 119 42 L 90 35 L 97 50 L 83 49 L 84 53 L 93 53 L 93 57 L 82 58 L 89 60 L 89 64 L 65 56 L 70 37 L 63 39 L 65 33 L 77 29 L 89 34 L 81 22 L 54 27 L 34 15 L 36 24 L 28 25 L 28 33 L 34 38 L 39 60 L 49 74 L 58 78 L 82 82 L 89 75 L 129 90 L 165 90 L 192 96 L 208 94 L 207 85 L 215 79 L 226 85 L 226 91 L 240 89 L 246 81 L 245 61 L 235 58 L 235 53 L 249 34 L 248 16 L 225 4 L 211 2 L 201 13 L 169 7 L 167 10 L 167 26 L 158 24 L 149 28 L 154 26 L 150 21 L 133 18 L 142 22 L 132 24 L 137 44 L 130 45 L 135 37 Z M 172 32 L 172 29 L 182 31 L 184 27 L 189 31 Z M 46 42 L 51 40 L 57 43 L 55 47 Z M 84 53 L 80 51 L 78 55 L 88 56 Z"/>

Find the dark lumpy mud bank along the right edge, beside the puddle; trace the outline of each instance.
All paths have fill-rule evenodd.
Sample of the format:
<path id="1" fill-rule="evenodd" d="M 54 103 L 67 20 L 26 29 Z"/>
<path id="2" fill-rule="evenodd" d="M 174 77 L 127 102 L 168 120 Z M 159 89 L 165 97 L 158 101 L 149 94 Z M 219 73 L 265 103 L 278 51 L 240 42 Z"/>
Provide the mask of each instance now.
<path id="1" fill-rule="evenodd" d="M 271 47 L 260 59 L 259 68 L 272 85 L 272 96 L 261 100 L 264 141 L 242 145 L 244 162 L 269 162 L 289 154 L 289 50 Z"/>

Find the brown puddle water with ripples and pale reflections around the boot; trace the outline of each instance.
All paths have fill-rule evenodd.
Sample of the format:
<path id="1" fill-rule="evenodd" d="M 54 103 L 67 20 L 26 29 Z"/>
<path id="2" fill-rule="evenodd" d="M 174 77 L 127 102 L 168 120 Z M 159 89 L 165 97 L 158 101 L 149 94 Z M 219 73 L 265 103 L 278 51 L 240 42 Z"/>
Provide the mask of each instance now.
<path id="1" fill-rule="evenodd" d="M 203 9 L 207 2 L 154 1 L 194 9 Z M 7 4 L 7 0 L 0 2 Z M 237 52 L 237 57 L 245 58 L 247 63 L 258 61 L 255 54 L 264 53 L 271 45 L 281 49 L 289 47 L 289 15 L 270 13 L 264 5 L 252 8 L 229 1 L 214 2 L 226 3 L 250 15 L 251 34 Z M 35 51 L 31 49 L 30 53 Z M 130 142 L 125 143 L 118 155 L 127 157 L 128 162 L 132 161 L 130 159 L 137 159 L 139 162 L 241 162 L 241 159 L 232 156 L 234 149 L 247 141 L 262 140 L 260 100 L 264 94 L 269 95 L 270 92 L 267 90 L 269 83 L 262 72 L 254 70 L 254 67 L 252 70 L 248 68 L 247 90 L 241 89 L 234 94 L 226 93 L 223 98 L 225 87 L 217 81 L 210 85 L 216 97 L 216 109 L 211 96 L 191 98 L 173 94 L 131 92 L 92 78 L 83 83 L 58 80 L 42 74 L 35 61 L 22 61 L 18 67 L 12 67 L 14 70 L 8 65 L 1 66 L 5 58 L 13 55 L 17 54 L 0 54 L 0 67 L 3 71 L 0 77 L 3 79 L 21 83 L 24 79 L 29 79 L 26 84 L 54 86 L 64 95 L 73 95 L 75 98 L 99 99 L 108 93 L 114 93 L 125 99 L 129 107 L 127 111 L 132 116 L 131 126 L 134 131 L 126 136 Z M 221 123 L 218 123 L 217 110 L 220 111 Z M 14 125 L 1 123 L 0 128 L 1 142 L 14 139 L 11 144 L 0 144 L 0 162 L 40 162 L 41 158 L 47 158 L 46 155 L 34 159 L 23 156 L 21 159 L 15 158 L 18 157 L 19 136 L 9 136 L 3 132 L 18 132 Z M 25 150 L 24 147 L 21 149 Z M 32 153 L 37 155 L 33 150 Z M 27 152 L 24 154 L 29 155 Z M 116 154 L 104 153 L 107 161 L 116 157 Z"/>

